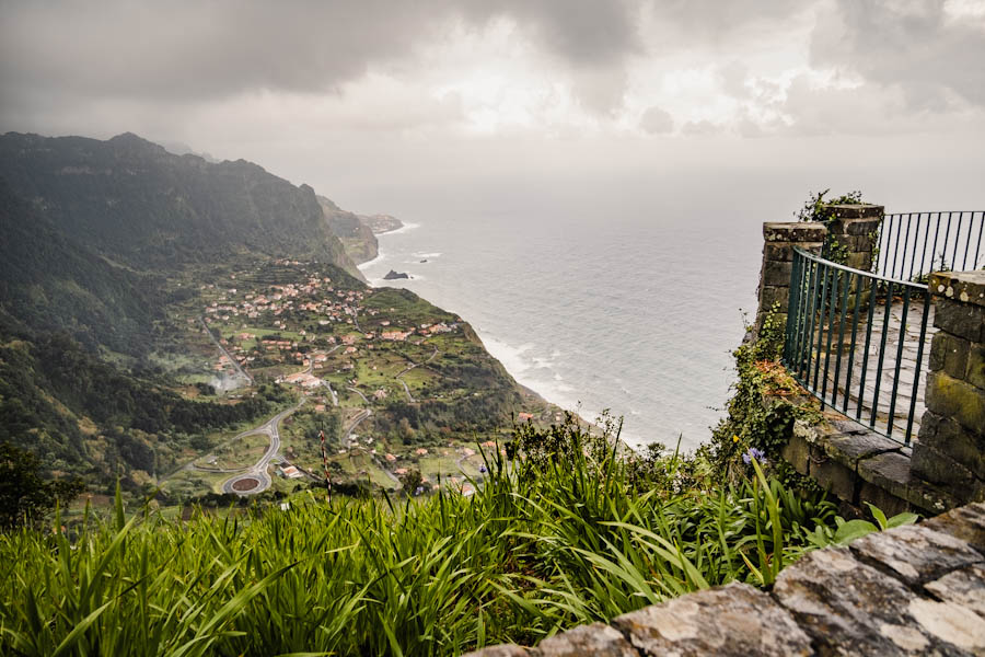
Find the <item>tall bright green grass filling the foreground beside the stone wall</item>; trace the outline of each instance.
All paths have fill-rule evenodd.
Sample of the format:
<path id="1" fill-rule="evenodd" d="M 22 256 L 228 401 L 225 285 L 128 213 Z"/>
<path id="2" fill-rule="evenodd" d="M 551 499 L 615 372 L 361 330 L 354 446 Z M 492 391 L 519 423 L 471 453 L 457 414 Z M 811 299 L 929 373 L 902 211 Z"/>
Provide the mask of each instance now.
<path id="1" fill-rule="evenodd" d="M 466 497 L 345 499 L 187 522 L 118 507 L 70 541 L 0 535 L 0 653 L 452 655 L 732 580 L 769 584 L 831 537 L 831 505 L 750 471 L 674 493 L 567 429 L 553 458 L 487 457 Z M 591 447 L 589 449 L 588 447 Z"/>

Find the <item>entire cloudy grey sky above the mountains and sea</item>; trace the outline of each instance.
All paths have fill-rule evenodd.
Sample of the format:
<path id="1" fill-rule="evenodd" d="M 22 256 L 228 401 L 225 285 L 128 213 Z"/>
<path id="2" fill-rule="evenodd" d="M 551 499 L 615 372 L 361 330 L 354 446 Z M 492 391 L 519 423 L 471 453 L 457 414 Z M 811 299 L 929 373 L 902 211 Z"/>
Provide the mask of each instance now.
<path id="1" fill-rule="evenodd" d="M 985 0 L 0 0 L 9 130 L 132 131 L 397 215 L 682 172 L 985 205 Z"/>

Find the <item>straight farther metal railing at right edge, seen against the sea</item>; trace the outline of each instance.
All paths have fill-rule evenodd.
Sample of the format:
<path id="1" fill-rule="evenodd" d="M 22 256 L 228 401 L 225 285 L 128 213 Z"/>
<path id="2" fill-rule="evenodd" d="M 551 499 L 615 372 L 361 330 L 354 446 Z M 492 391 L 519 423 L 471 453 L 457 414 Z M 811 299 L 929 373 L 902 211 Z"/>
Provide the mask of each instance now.
<path id="1" fill-rule="evenodd" d="M 874 272 L 924 280 L 930 272 L 977 269 L 985 264 L 983 232 L 985 211 L 885 215 Z"/>

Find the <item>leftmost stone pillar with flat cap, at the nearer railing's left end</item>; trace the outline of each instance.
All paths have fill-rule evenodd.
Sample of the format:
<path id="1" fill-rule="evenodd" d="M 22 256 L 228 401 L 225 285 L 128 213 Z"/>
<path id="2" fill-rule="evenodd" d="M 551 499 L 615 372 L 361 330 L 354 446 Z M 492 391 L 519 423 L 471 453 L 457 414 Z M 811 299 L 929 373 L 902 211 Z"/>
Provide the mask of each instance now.
<path id="1" fill-rule="evenodd" d="M 755 333 L 758 335 L 766 314 L 777 306 L 777 320 L 783 326 L 787 321 L 787 303 L 790 300 L 790 274 L 793 267 L 793 247 L 820 253 L 827 235 L 827 228 L 819 222 L 786 222 L 763 224 L 763 267 L 760 270 L 760 307 L 756 310 Z"/>

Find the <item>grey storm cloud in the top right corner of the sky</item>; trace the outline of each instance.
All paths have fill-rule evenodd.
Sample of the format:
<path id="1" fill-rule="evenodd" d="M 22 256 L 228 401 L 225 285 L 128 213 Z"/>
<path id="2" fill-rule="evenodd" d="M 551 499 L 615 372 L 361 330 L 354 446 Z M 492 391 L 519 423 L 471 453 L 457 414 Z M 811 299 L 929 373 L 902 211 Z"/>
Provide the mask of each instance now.
<path id="1" fill-rule="evenodd" d="M 955 96 L 985 105 L 985 25 L 948 15 L 943 2 L 838 0 L 814 31 L 811 59 L 899 85 L 913 111 Z"/>

